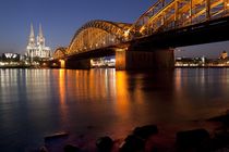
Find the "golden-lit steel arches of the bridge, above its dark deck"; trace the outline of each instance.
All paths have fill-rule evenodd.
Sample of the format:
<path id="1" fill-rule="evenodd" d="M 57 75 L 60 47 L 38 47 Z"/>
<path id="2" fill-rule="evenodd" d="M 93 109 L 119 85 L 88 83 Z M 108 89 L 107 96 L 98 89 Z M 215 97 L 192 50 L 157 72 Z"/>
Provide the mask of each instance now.
<path id="1" fill-rule="evenodd" d="M 158 0 L 135 23 L 91 21 L 83 25 L 56 59 L 179 29 L 229 15 L 229 0 Z"/>

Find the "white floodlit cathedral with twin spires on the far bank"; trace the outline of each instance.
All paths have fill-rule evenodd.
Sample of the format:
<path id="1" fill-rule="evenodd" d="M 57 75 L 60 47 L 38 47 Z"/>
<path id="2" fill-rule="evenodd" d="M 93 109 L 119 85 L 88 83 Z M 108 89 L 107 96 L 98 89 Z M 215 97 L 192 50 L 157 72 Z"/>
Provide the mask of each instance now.
<path id="1" fill-rule="evenodd" d="M 41 25 L 39 25 L 39 34 L 37 39 L 35 39 L 33 25 L 31 25 L 31 35 L 25 55 L 32 60 L 34 58 L 49 59 L 51 56 L 51 50 L 49 47 L 46 47 L 45 43 L 46 41 L 43 35 Z"/>

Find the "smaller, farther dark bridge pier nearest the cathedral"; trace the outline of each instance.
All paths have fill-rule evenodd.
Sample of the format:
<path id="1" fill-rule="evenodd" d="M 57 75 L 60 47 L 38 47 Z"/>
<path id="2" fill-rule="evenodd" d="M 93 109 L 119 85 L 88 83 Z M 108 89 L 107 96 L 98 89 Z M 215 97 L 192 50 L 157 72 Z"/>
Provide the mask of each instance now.
<path id="1" fill-rule="evenodd" d="M 89 69 L 91 68 L 91 60 L 89 59 L 84 59 L 84 60 L 68 59 L 65 61 L 65 68 Z"/>

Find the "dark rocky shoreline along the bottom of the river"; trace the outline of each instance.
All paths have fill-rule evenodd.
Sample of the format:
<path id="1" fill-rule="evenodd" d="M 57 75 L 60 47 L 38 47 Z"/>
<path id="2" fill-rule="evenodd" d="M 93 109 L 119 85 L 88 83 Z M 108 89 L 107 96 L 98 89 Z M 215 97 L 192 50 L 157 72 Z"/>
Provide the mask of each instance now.
<path id="1" fill-rule="evenodd" d="M 123 139 L 104 136 L 97 140 L 79 136 L 74 143 L 57 145 L 68 138 L 68 132 L 58 134 L 45 141 L 38 152 L 229 152 L 229 112 L 209 119 L 212 129 L 194 128 L 178 130 L 169 137 L 157 125 L 134 128 Z"/>

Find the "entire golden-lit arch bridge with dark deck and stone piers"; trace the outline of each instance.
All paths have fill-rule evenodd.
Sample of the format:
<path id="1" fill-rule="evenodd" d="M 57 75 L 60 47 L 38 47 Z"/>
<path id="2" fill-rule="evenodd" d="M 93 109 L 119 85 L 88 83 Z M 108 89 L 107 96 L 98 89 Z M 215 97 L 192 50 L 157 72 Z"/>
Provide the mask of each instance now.
<path id="1" fill-rule="evenodd" d="M 92 21 L 55 60 L 87 68 L 89 59 L 116 54 L 118 69 L 172 68 L 174 47 L 228 40 L 229 0 L 159 0 L 134 24 Z"/>

